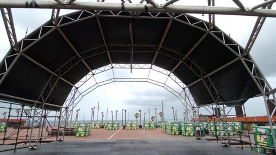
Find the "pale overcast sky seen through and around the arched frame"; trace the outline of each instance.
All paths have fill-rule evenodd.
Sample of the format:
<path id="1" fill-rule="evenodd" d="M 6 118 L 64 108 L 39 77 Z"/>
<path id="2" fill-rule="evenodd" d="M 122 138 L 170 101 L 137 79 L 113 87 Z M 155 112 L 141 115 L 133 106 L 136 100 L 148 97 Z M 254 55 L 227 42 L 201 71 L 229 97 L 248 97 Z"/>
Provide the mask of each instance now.
<path id="1" fill-rule="evenodd" d="M 105 2 L 114 2 L 113 0 L 106 0 Z M 135 1 L 133 1 L 135 2 Z M 157 1 L 157 3 L 163 3 L 163 1 Z M 245 7 L 250 7 L 261 3 L 262 0 L 241 0 Z M 196 4 L 195 4 L 196 3 Z M 180 0 L 175 5 L 207 5 L 207 0 Z M 272 9 L 276 9 L 274 4 Z M 231 0 L 216 1 L 216 6 L 229 6 L 236 7 Z M 29 28 L 28 34 L 38 28 L 40 25 L 50 19 L 50 9 L 12 9 L 14 25 L 18 40 L 25 36 L 27 27 Z M 72 10 L 61 10 L 61 15 L 70 13 Z M 202 16 L 202 14 L 193 14 L 194 16 L 208 21 L 208 15 Z M 226 16 L 216 15 L 215 23 L 226 34 L 230 34 L 236 42 L 245 47 L 247 40 L 251 34 L 252 28 L 257 17 L 246 16 Z M 10 48 L 7 34 L 4 28 L 3 20 L 0 20 L 0 58 L 3 59 L 4 55 Z M 276 87 L 276 18 L 267 18 L 263 28 L 256 39 L 256 42 L 251 50 L 253 59 L 257 62 L 257 65 L 266 76 L 270 85 Z M 116 77 L 146 77 L 148 70 L 133 70 L 130 74 L 130 70 L 115 70 Z M 97 77 L 98 81 L 109 79 L 110 73 L 104 73 Z M 152 73 L 151 78 L 164 80 L 161 75 Z M 91 83 L 90 83 L 91 84 Z M 86 87 L 88 87 L 86 85 Z M 118 119 L 121 119 L 120 111 L 126 109 L 129 112 L 130 119 L 135 119 L 134 114 L 139 109 L 142 113 L 146 112 L 146 118 L 148 118 L 148 107 L 150 107 L 150 116 L 155 115 L 154 108 L 157 108 L 157 113 L 161 111 L 161 102 L 163 101 L 165 106 L 166 119 L 173 119 L 172 109 L 174 106 L 178 110 L 178 119 L 183 119 L 184 107 L 176 96 L 168 92 L 162 87 L 152 85 L 150 83 L 111 83 L 104 85 L 87 96 L 85 96 L 77 108 L 80 108 L 79 120 L 83 119 L 83 113 L 85 113 L 85 120 L 90 120 L 91 107 L 97 106 L 100 101 L 100 112 L 104 112 L 106 115 L 106 108 L 108 107 L 109 114 L 108 119 L 111 119 L 110 111 L 119 110 Z M 247 116 L 263 116 L 266 115 L 263 98 L 254 98 L 246 102 Z M 0 110 L 3 111 L 2 109 Z M 200 109 L 200 113 L 208 114 L 203 108 Z M 233 113 L 234 114 L 234 113 Z M 73 114 L 73 120 L 75 118 Z M 158 115 L 158 114 L 157 114 Z M 143 116 L 143 115 L 142 115 Z M 96 118 L 96 117 L 95 117 Z M 100 118 L 100 116 L 99 116 Z M 159 118 L 159 117 L 157 117 Z M 104 116 L 104 119 L 105 116 Z"/>

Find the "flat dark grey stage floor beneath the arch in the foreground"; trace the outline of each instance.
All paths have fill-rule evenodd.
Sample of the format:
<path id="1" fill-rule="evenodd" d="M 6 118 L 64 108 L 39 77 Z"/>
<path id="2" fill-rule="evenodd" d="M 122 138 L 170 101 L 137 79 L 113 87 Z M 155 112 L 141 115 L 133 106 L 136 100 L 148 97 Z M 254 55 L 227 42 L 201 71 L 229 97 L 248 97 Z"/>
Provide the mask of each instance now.
<path id="1" fill-rule="evenodd" d="M 5 155 L 260 155 L 236 147 L 221 147 L 207 140 L 167 139 L 110 139 L 71 140 L 51 142 L 36 150 L 19 149 L 0 152 Z"/>

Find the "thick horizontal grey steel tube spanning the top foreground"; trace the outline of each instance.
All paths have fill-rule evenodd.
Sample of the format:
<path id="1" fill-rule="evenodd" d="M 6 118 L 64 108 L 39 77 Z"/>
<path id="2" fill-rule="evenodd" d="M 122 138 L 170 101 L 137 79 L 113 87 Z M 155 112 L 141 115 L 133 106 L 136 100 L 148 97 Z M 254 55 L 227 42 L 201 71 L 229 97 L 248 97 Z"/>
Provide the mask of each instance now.
<path id="1" fill-rule="evenodd" d="M 31 1 L 30 1 L 31 2 Z M 59 9 L 87 9 L 87 10 L 111 10 L 111 11 L 130 11 L 130 12 L 165 12 L 165 13 L 206 13 L 206 14 L 226 14 L 226 15 L 245 15 L 245 16 L 266 16 L 276 17 L 275 10 L 255 9 L 252 11 L 244 11 L 241 8 L 234 7 L 209 7 L 209 6 L 177 6 L 169 5 L 165 8 L 156 8 L 151 4 L 134 4 L 124 3 L 124 7 L 120 3 L 95 3 L 95 2 L 73 2 L 71 4 L 62 5 L 53 0 L 42 1 L 36 0 L 36 5 L 26 5 L 25 1 L 10 0 L 0 1 L 1 8 L 59 8 Z M 145 8 L 147 6 L 147 10 Z"/>

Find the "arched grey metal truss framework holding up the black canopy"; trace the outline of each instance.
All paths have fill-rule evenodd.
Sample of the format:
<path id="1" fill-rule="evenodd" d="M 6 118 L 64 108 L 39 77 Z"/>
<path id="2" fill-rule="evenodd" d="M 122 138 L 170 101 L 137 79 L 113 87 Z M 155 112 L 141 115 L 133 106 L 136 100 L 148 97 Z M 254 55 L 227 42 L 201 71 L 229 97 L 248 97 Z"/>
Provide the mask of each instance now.
<path id="1" fill-rule="evenodd" d="M 0 85 L 4 82 L 9 72 L 11 72 L 17 60 L 20 59 L 21 57 L 24 57 L 24 59 L 27 59 L 28 61 L 44 69 L 45 72 L 50 73 L 50 78 L 46 82 L 45 86 L 43 86 L 41 94 L 38 96 L 37 99 L 28 99 L 28 98 L 0 93 L 1 98 L 5 100 L 18 101 L 19 103 L 21 102 L 24 103 L 24 104 L 19 104 L 20 106 L 22 106 L 20 120 L 22 118 L 23 111 L 26 110 L 26 108 L 24 109 L 24 107 L 29 106 L 28 108 L 31 110 L 31 113 L 33 113 L 33 115 L 30 115 L 30 114 L 27 115 L 28 117 L 27 120 L 29 123 L 26 127 L 28 128 L 28 131 L 30 127 L 30 132 L 27 132 L 27 135 L 25 136 L 25 141 L 24 141 L 25 144 L 29 143 L 29 147 L 34 148 L 39 143 L 43 142 L 43 139 L 47 138 L 47 136 L 45 136 L 44 138 L 42 133 L 43 133 L 43 129 L 46 128 L 45 123 L 47 121 L 47 117 L 51 117 L 51 116 L 48 116 L 49 111 L 51 110 L 60 111 L 59 116 L 52 116 L 52 117 L 57 117 L 59 119 L 57 132 L 54 132 L 54 134 L 57 133 L 55 135 L 56 140 L 64 139 L 64 136 L 65 136 L 64 130 L 67 125 L 66 121 L 69 120 L 70 112 L 72 114 L 73 107 L 76 106 L 76 104 L 74 105 L 74 103 L 78 103 L 83 96 L 85 96 L 88 92 L 91 92 L 92 90 L 96 89 L 98 86 L 105 85 L 111 82 L 149 82 L 155 85 L 162 86 L 163 88 L 167 89 L 168 91 L 170 91 L 171 93 L 173 93 L 175 96 L 179 98 L 179 100 L 183 103 L 183 105 L 186 106 L 187 111 L 190 111 L 189 114 L 190 114 L 190 117 L 193 119 L 193 121 L 195 122 L 199 121 L 199 119 L 196 118 L 196 117 L 199 117 L 199 108 L 204 107 L 207 111 L 210 112 L 211 116 L 214 117 L 214 121 L 216 117 L 217 121 L 221 123 L 226 123 L 227 116 L 229 116 L 229 111 L 226 111 L 224 104 L 228 104 L 228 102 L 221 100 L 220 93 L 216 89 L 217 86 L 210 79 L 210 77 L 237 62 L 240 62 L 242 66 L 245 67 L 246 69 L 245 71 L 248 72 L 248 74 L 250 75 L 250 79 L 254 82 L 254 84 L 256 84 L 257 90 L 260 92 L 259 94 L 256 94 L 254 97 L 263 96 L 266 111 L 268 114 L 269 125 L 271 129 L 273 129 L 273 125 L 276 125 L 276 124 L 275 122 L 272 121 L 272 114 L 275 112 L 276 108 L 274 107 L 274 110 L 271 114 L 268 110 L 267 101 L 270 101 L 271 103 L 273 103 L 274 106 L 276 106 L 276 100 L 275 100 L 276 91 L 268 84 L 267 80 L 262 75 L 258 66 L 256 65 L 256 63 L 254 62 L 254 60 L 252 59 L 249 53 L 260 32 L 260 29 L 263 26 L 263 23 L 266 17 L 276 17 L 276 11 L 271 10 L 271 6 L 275 2 L 275 0 L 264 1 L 263 3 L 260 3 L 250 8 L 244 7 L 239 0 L 233 0 L 233 2 L 236 3 L 238 8 L 216 7 L 214 0 L 208 0 L 208 6 L 173 5 L 173 3 L 176 3 L 177 0 L 169 0 L 163 4 L 157 4 L 152 0 L 145 0 L 145 1 L 142 0 L 139 4 L 134 4 L 130 0 L 127 0 L 127 1 L 121 0 L 121 2 L 122 3 L 106 3 L 104 2 L 104 0 L 97 1 L 97 2 L 78 2 L 76 0 L 52 0 L 52 1 L 50 0 L 49 1 L 0 0 L 1 13 L 4 20 L 5 28 L 7 30 L 8 39 L 11 45 L 10 51 L 1 62 L 2 67 L 0 70 L 1 71 Z M 24 39 L 22 39 L 20 42 L 18 42 L 16 38 L 16 33 L 13 25 L 13 18 L 12 18 L 12 13 L 10 8 L 51 8 L 53 9 L 51 14 L 51 22 L 42 25 L 34 33 L 31 33 L 28 35 L 31 37 L 27 36 Z M 59 16 L 60 9 L 80 9 L 80 11 L 78 11 L 77 13 Z M 96 10 L 96 11 L 91 11 L 91 10 Z M 193 18 L 187 15 L 186 13 L 209 14 L 209 22 L 206 22 L 197 18 Z M 247 45 L 244 49 L 239 44 L 237 44 L 234 40 L 232 40 L 229 36 L 227 36 L 223 31 L 215 27 L 215 14 L 258 16 L 256 24 L 252 30 L 252 34 L 250 35 Z M 134 44 L 131 23 L 129 26 L 130 40 L 131 40 L 130 44 L 119 44 L 119 45 L 108 44 L 105 40 L 101 23 L 99 22 L 99 18 L 101 17 L 133 18 L 133 19 L 137 18 L 137 19 L 152 19 L 152 20 L 166 19 L 168 20 L 168 24 L 165 28 L 165 31 L 162 35 L 162 39 L 159 45 Z M 62 30 L 62 27 L 65 27 L 70 24 L 78 23 L 90 18 L 97 19 L 97 23 L 100 29 L 100 34 L 102 36 L 104 44 L 102 46 L 99 46 L 93 49 L 79 52 L 77 51 L 77 48 L 67 38 L 66 34 Z M 192 28 L 196 28 L 197 30 L 200 30 L 203 32 L 203 35 L 199 37 L 198 41 L 188 50 L 186 54 L 181 54 L 177 51 L 174 51 L 172 49 L 168 49 L 162 46 L 166 38 L 166 35 L 169 31 L 169 28 L 174 21 L 177 21 L 184 25 L 188 25 L 189 27 L 192 27 Z M 72 48 L 72 51 L 75 53 L 75 55 L 72 56 L 72 58 L 68 59 L 66 63 L 61 65 L 61 67 L 56 68 L 55 70 L 45 67 L 45 65 L 42 65 L 40 62 L 36 61 L 35 59 L 31 58 L 28 54 L 26 54 L 26 51 L 28 51 L 28 49 L 30 49 L 40 40 L 46 38 L 47 35 L 51 34 L 54 31 L 58 31 L 59 34 L 61 34 L 62 38 L 65 39 L 66 43 L 69 44 L 69 46 Z M 227 50 L 229 50 L 232 54 L 234 54 L 235 58 L 227 62 L 226 64 L 220 65 L 215 70 L 206 72 L 206 70 L 203 70 L 202 68 L 200 68 L 198 64 L 195 64 L 188 57 L 192 52 L 194 52 L 194 50 L 208 35 L 215 38 L 216 41 L 221 43 Z M 127 65 L 114 64 L 110 57 L 110 53 L 124 52 L 124 51 L 130 51 L 131 53 L 130 63 Z M 135 64 L 133 62 L 134 52 L 153 53 L 154 57 L 151 61 L 151 64 L 150 65 Z M 100 69 L 92 70 L 88 65 L 86 59 L 103 53 L 106 53 L 108 55 L 108 60 L 110 65 L 107 65 Z M 162 54 L 171 59 L 177 60 L 178 63 L 174 65 L 170 71 L 163 70 L 154 65 L 158 54 L 159 55 Z M 66 72 L 68 72 L 78 63 L 82 63 L 83 65 L 85 65 L 85 67 L 89 70 L 89 73 L 85 75 L 85 77 L 82 80 L 74 84 L 70 80 L 64 78 L 63 75 L 65 75 Z M 188 85 L 184 85 L 182 81 L 178 81 L 175 75 L 173 75 L 173 72 L 176 71 L 177 68 L 183 64 L 185 65 L 185 67 L 187 67 L 197 76 L 198 80 L 194 80 L 190 82 Z M 167 75 L 167 79 L 173 80 L 182 90 L 178 92 L 172 89 L 171 87 L 167 86 L 166 82 L 160 83 L 156 80 L 150 79 L 149 77 L 145 79 L 137 79 L 137 78 L 129 79 L 129 78 L 115 78 L 114 76 L 109 80 L 101 81 L 101 82 L 97 82 L 96 79 L 94 78 L 94 75 L 97 75 L 98 73 L 101 73 L 107 70 L 113 71 L 116 67 L 127 68 L 127 69 L 130 69 L 130 71 L 136 68 L 155 70 L 161 74 Z M 87 81 L 91 79 L 95 81 L 95 85 L 81 92 L 79 89 L 82 87 L 82 85 L 84 85 Z M 56 87 L 56 85 L 58 85 L 59 81 L 63 81 L 64 83 L 72 87 L 69 97 L 65 101 L 64 105 L 52 104 L 51 102 L 48 103 L 47 101 L 50 97 L 50 94 L 54 91 L 54 88 Z M 198 84 L 199 82 L 202 82 L 204 84 L 204 88 L 207 89 L 209 95 L 211 96 L 211 102 L 209 104 L 196 105 L 194 100 L 192 99 L 192 96 L 190 95 L 190 91 L 188 90 L 188 88 L 191 88 L 191 86 Z M 272 96 L 272 99 L 269 98 L 269 96 Z M 13 109 L 12 105 L 17 103 L 5 102 L 5 101 L 3 101 L 3 103 L 10 105 L 10 107 L 8 108 L 9 109 L 8 119 L 9 119 L 9 117 L 12 117 L 10 115 L 10 111 Z M 215 110 L 213 108 L 214 106 L 216 107 L 215 110 L 217 114 L 219 112 L 222 113 L 221 116 L 215 115 Z M 230 110 L 231 109 L 232 108 L 230 108 Z M 191 114 L 193 115 L 191 116 Z M 39 131 L 38 133 L 35 133 L 33 130 L 37 126 L 39 126 Z M 15 150 L 17 141 L 20 138 L 18 136 L 20 130 L 21 130 L 20 127 L 18 127 L 16 132 L 17 133 L 16 137 L 13 137 L 13 135 L 8 135 L 6 137 L 6 133 L 5 133 L 5 136 L 3 138 L 3 144 L 5 140 L 7 140 L 8 138 L 15 138 L 16 140 L 15 148 L 14 148 Z M 241 133 L 241 134 L 244 134 L 246 137 L 249 136 L 249 133 L 248 134 Z M 201 135 L 197 135 L 197 137 L 201 138 Z M 273 137 L 273 142 L 275 143 L 276 140 L 275 140 L 274 132 L 272 132 L 272 137 Z M 229 144 L 231 141 L 228 134 L 227 134 L 227 137 L 223 137 L 223 136 L 216 137 L 217 140 L 218 138 L 220 139 L 221 144 Z M 249 144 L 249 143 L 245 143 L 245 144 Z M 251 145 L 251 142 L 250 142 L 250 145 Z"/>

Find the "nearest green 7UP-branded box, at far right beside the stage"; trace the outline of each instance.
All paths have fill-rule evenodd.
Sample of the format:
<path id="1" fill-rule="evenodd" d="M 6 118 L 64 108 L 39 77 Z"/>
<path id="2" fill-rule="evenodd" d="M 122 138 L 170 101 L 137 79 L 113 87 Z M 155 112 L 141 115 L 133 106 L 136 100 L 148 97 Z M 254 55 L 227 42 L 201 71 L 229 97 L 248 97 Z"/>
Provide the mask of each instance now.
<path id="1" fill-rule="evenodd" d="M 273 126 L 273 132 L 276 134 L 276 127 Z M 254 140 L 256 145 L 274 147 L 272 133 L 269 126 L 253 127 Z"/>

